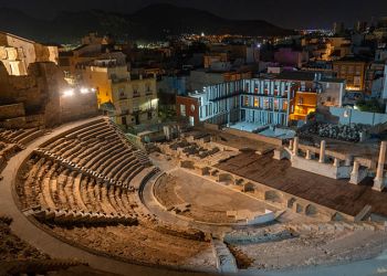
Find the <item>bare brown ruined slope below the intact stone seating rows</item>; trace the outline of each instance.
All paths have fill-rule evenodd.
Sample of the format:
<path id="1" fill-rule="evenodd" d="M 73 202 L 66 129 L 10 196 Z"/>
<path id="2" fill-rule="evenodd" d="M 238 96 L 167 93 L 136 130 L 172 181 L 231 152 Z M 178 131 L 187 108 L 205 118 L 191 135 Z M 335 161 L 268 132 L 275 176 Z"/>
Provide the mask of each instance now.
<path id="1" fill-rule="evenodd" d="M 138 226 L 54 227 L 71 241 L 128 262 L 213 270 L 216 263 L 208 242 L 192 241 Z"/>

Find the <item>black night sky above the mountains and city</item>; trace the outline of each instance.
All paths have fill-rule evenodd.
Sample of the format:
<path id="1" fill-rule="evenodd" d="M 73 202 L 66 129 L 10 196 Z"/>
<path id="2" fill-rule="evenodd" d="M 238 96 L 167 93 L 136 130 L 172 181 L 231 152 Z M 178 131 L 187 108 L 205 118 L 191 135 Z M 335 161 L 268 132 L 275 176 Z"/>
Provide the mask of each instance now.
<path id="1" fill-rule="evenodd" d="M 353 26 L 357 20 L 387 15 L 387 0 L 0 0 L 30 15 L 53 18 L 56 11 L 101 9 L 133 13 L 150 3 L 167 2 L 210 11 L 229 19 L 263 19 L 284 28 L 331 28 L 334 21 Z"/>

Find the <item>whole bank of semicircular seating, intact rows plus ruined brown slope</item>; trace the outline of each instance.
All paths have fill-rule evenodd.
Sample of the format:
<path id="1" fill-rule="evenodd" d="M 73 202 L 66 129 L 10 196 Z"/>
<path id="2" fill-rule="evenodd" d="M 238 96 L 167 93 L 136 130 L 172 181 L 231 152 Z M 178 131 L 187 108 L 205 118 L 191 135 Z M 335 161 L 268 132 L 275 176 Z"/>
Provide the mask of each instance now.
<path id="1" fill-rule="evenodd" d="M 143 184 L 158 172 L 100 118 L 36 148 L 19 170 L 17 193 L 27 216 L 85 247 L 139 263 L 215 267 L 203 232 L 165 222 L 143 204 Z"/>

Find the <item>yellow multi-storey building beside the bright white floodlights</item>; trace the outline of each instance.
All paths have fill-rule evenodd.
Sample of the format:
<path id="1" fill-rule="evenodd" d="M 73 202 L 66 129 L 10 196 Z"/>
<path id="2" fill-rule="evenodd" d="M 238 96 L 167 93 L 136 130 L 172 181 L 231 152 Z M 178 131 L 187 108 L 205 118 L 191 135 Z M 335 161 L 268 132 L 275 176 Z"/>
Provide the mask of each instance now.
<path id="1" fill-rule="evenodd" d="M 115 60 L 82 66 L 82 84 L 94 87 L 100 106 L 113 104 L 114 120 L 124 126 L 157 121 L 156 77 L 130 76 Z"/>

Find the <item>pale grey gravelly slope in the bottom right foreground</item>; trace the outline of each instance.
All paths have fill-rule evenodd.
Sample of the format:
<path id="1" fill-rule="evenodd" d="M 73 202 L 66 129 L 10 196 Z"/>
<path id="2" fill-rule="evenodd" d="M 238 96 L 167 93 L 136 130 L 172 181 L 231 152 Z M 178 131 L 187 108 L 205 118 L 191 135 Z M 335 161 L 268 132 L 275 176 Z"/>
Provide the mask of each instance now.
<path id="1" fill-rule="evenodd" d="M 387 233 L 374 231 L 308 234 L 279 242 L 232 244 L 250 268 L 284 269 L 372 258 L 387 247 Z"/>

